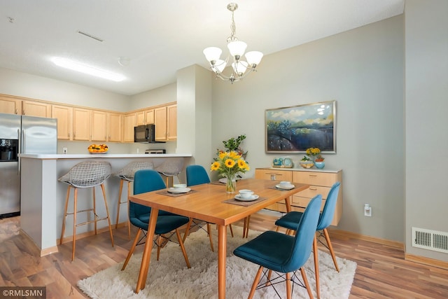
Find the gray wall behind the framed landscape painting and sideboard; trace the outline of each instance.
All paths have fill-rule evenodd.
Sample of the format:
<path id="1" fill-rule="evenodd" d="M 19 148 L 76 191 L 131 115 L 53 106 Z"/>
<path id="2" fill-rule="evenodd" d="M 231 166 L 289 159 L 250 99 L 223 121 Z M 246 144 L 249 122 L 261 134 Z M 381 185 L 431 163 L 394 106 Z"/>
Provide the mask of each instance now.
<path id="1" fill-rule="evenodd" d="M 212 145 L 246 134 L 253 176 L 279 155 L 265 153 L 265 109 L 337 101 L 337 153 L 343 170 L 338 228 L 404 240 L 403 16 L 267 55 L 255 74 L 214 81 Z M 295 165 L 303 153 L 288 155 Z M 372 217 L 363 215 L 369 203 Z"/>

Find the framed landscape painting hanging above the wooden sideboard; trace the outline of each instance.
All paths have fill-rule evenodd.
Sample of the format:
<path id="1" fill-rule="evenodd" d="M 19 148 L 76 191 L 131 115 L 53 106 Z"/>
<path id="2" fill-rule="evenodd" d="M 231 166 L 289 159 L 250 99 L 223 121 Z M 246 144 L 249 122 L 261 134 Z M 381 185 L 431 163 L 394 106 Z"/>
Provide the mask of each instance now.
<path id="1" fill-rule="evenodd" d="M 267 109 L 266 153 L 336 153 L 336 101 Z"/>

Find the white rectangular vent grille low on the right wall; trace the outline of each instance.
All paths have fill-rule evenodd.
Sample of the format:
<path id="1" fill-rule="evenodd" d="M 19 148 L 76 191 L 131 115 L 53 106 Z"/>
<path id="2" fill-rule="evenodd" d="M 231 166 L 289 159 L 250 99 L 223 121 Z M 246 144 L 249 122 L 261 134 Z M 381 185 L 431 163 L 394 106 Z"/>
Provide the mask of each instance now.
<path id="1" fill-rule="evenodd" d="M 448 232 L 412 228 L 412 246 L 448 253 Z"/>

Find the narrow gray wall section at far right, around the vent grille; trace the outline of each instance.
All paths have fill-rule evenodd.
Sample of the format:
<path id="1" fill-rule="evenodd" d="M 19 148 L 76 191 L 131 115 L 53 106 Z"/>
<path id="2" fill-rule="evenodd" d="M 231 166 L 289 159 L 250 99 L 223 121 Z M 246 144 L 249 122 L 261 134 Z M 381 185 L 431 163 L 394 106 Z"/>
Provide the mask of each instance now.
<path id="1" fill-rule="evenodd" d="M 447 261 L 412 247 L 411 232 L 448 232 L 448 1 L 407 0 L 405 15 L 406 251 Z"/>

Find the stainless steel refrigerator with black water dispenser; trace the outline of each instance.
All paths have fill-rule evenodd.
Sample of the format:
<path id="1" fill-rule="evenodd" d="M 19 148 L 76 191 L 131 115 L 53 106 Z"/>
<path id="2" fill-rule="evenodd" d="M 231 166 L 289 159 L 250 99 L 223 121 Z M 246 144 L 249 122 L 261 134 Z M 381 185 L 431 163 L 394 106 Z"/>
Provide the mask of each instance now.
<path id="1" fill-rule="evenodd" d="M 0 218 L 20 215 L 20 153 L 57 153 L 57 120 L 0 113 Z"/>

